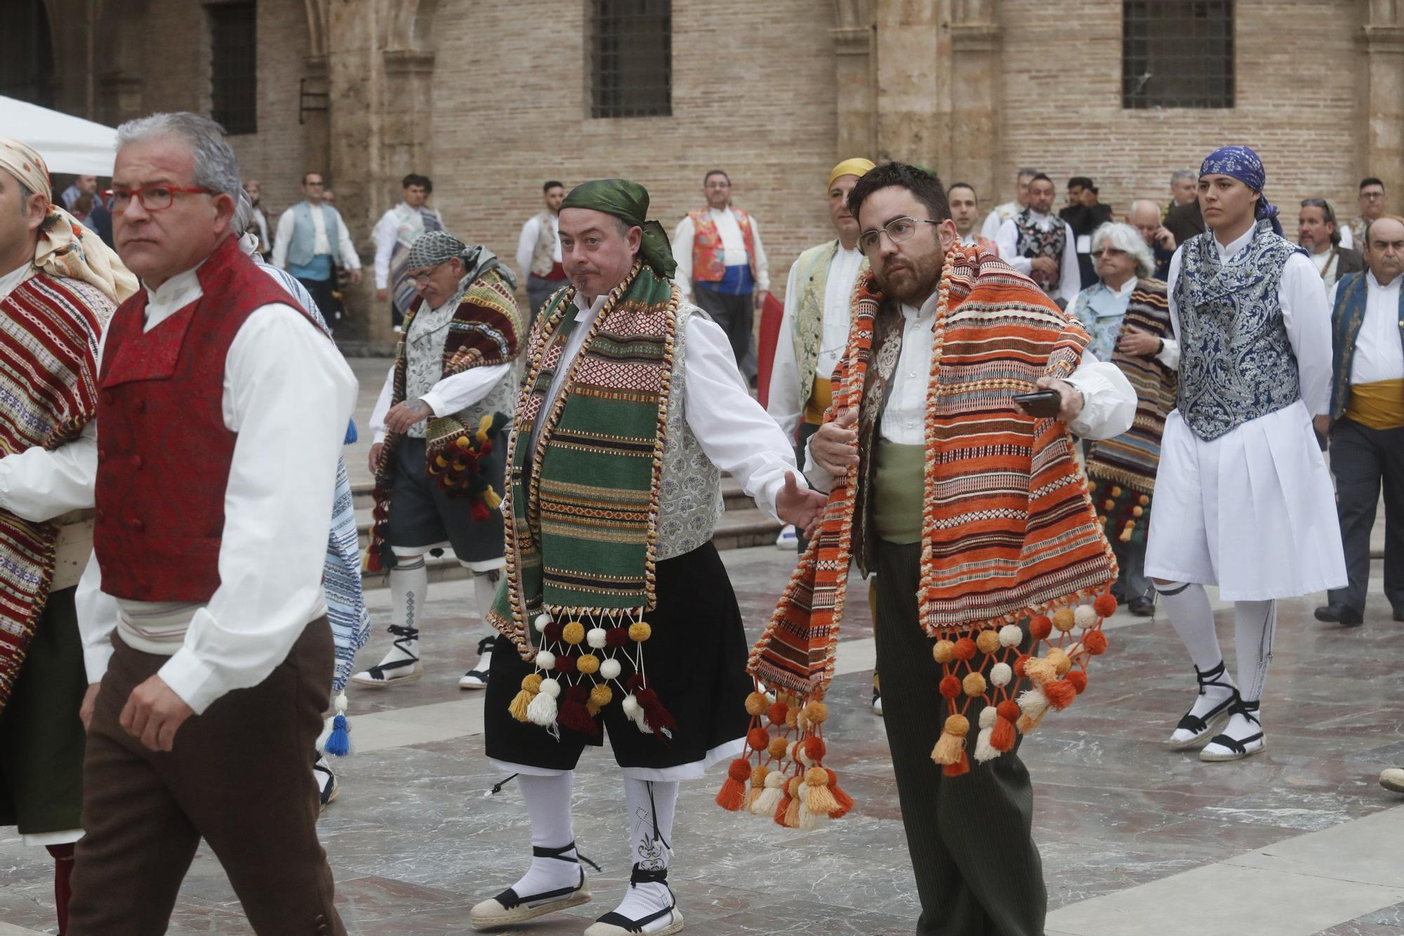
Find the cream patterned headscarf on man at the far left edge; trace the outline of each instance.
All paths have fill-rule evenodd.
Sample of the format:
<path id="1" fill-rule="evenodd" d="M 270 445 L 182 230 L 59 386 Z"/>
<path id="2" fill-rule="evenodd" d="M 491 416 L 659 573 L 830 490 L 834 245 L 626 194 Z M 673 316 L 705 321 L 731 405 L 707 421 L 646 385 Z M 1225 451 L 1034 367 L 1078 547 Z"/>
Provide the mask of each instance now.
<path id="1" fill-rule="evenodd" d="M 49 215 L 39 226 L 39 245 L 27 280 L 41 271 L 81 280 L 101 290 L 112 302 L 122 302 L 136 292 L 136 277 L 117 253 L 77 218 L 49 201 L 49 167 L 44 156 L 27 143 L 0 136 L 0 169 L 29 191 L 44 195 L 49 205 Z"/>

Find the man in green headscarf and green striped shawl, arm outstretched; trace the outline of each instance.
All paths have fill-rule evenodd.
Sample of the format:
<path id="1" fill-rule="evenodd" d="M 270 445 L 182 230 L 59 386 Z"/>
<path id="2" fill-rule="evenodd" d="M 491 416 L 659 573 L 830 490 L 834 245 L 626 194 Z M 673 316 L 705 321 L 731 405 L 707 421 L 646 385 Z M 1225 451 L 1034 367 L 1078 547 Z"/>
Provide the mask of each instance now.
<path id="1" fill-rule="evenodd" d="M 562 202 L 571 287 L 536 319 L 508 450 L 507 576 L 487 682 L 487 756 L 519 774 L 532 862 L 475 928 L 590 899 L 573 770 L 609 732 L 633 873 L 588 936 L 677 933 L 678 783 L 743 750 L 746 634 L 712 545 L 727 471 L 761 510 L 810 526 L 823 496 L 751 399 L 722 329 L 668 282 L 649 193 L 611 178 Z"/>

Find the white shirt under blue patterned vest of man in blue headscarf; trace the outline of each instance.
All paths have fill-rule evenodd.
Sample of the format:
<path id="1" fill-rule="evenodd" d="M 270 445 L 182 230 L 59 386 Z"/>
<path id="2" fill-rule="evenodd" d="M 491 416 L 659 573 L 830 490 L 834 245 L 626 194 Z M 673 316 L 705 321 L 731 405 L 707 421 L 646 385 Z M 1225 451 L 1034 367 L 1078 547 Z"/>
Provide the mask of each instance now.
<path id="1" fill-rule="evenodd" d="M 1219 243 L 1220 263 L 1231 259 L 1252 240 L 1255 228 L 1248 228 L 1230 245 Z M 1210 236 L 1212 232 L 1210 232 Z M 1175 249 L 1170 260 L 1170 325 L 1179 339 L 1179 306 L 1175 304 L 1175 282 L 1179 280 L 1179 266 L 1185 247 Z M 1327 305 L 1325 285 L 1316 267 L 1300 252 L 1287 257 L 1282 267 L 1282 281 L 1278 284 L 1278 302 L 1282 308 L 1282 323 L 1287 329 L 1287 342 L 1297 358 L 1297 374 L 1302 382 L 1302 402 L 1307 412 L 1320 416 L 1331 412 L 1331 308 Z M 1396 319 L 1397 320 L 1397 319 Z"/>

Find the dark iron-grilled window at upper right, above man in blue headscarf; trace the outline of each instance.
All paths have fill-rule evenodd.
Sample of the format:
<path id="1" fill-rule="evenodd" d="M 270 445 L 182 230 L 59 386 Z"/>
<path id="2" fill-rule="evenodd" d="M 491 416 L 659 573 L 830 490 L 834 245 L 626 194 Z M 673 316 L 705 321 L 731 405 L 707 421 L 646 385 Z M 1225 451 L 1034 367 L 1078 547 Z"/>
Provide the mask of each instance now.
<path id="1" fill-rule="evenodd" d="M 1122 3 L 1122 107 L 1233 107 L 1233 0 Z"/>

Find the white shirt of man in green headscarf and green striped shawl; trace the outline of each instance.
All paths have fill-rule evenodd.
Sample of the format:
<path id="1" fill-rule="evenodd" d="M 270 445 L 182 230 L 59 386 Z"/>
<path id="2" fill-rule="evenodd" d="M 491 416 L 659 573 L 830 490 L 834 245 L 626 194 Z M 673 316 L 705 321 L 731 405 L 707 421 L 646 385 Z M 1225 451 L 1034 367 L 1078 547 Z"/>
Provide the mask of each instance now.
<path id="1" fill-rule="evenodd" d="M 542 401 L 542 413 L 550 412 L 607 298 L 595 297 L 585 306 L 585 297 L 576 297 L 576 327 L 566 339 L 560 365 L 546 399 Z M 702 446 L 702 453 L 713 465 L 736 478 L 761 510 L 779 520 L 775 498 L 785 486 L 785 474 L 795 472 L 795 482 L 800 488 L 806 486 L 795 468 L 795 448 L 747 391 L 726 332 L 699 309 L 694 309 L 688 318 L 681 365 L 682 416 Z M 532 426 L 534 451 L 543 422 L 545 416 Z"/>

